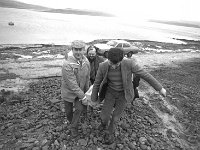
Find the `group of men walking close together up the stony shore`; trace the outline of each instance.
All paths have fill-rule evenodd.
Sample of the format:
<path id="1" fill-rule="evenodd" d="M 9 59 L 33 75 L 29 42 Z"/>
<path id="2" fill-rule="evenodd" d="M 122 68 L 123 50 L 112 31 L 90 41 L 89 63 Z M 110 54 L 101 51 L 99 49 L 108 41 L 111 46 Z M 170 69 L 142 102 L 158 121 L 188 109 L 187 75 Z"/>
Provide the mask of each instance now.
<path id="1" fill-rule="evenodd" d="M 85 56 L 85 47 L 83 41 L 73 41 L 62 66 L 61 95 L 71 135 L 78 135 L 79 118 L 87 107 L 85 93 L 93 85 L 91 101 L 94 104 L 103 101 L 99 130 L 105 131 L 105 142 L 112 143 L 117 120 L 137 92 L 132 83 L 133 76 L 144 79 L 164 97 L 166 90 L 134 58 L 125 58 L 122 49 L 111 48 L 104 60 L 96 55 L 94 46 L 89 46 Z"/>

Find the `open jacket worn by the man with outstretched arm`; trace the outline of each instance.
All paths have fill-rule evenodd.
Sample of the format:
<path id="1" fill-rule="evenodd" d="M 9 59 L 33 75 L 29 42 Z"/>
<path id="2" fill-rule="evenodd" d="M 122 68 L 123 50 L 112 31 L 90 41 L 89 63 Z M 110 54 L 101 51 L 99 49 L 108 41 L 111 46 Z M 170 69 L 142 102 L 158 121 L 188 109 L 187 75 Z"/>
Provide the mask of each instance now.
<path id="1" fill-rule="evenodd" d="M 100 100 L 102 100 L 105 96 L 106 92 L 105 85 L 107 84 L 108 70 L 109 70 L 108 61 L 105 61 L 99 65 L 99 69 L 97 71 L 91 95 L 91 100 L 94 102 L 98 100 L 98 94 Z M 125 98 L 127 102 L 131 102 L 135 95 L 132 83 L 133 74 L 147 81 L 156 91 L 160 91 L 162 89 L 162 85 L 151 74 L 142 69 L 133 59 L 124 58 L 122 60 L 121 74 L 122 74 L 122 82 L 125 92 Z"/>

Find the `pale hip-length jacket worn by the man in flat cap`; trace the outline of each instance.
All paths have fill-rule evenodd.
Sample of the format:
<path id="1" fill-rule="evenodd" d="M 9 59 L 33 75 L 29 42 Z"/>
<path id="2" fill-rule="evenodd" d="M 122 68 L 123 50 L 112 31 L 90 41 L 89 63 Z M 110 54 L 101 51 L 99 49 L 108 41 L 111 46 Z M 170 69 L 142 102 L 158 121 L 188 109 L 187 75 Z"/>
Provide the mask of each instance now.
<path id="1" fill-rule="evenodd" d="M 70 51 L 63 63 L 61 96 L 65 101 L 74 102 L 76 97 L 82 99 L 89 89 L 90 63 L 85 56 L 83 57 L 81 65 Z"/>

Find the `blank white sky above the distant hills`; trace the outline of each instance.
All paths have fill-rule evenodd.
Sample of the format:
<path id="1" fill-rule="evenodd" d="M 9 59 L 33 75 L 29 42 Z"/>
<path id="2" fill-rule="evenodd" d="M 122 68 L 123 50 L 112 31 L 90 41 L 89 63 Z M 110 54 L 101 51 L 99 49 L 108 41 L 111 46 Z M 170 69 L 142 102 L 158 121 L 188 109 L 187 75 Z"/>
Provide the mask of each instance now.
<path id="1" fill-rule="evenodd" d="M 199 0 L 16 0 L 51 8 L 111 13 L 127 19 L 200 21 Z"/>

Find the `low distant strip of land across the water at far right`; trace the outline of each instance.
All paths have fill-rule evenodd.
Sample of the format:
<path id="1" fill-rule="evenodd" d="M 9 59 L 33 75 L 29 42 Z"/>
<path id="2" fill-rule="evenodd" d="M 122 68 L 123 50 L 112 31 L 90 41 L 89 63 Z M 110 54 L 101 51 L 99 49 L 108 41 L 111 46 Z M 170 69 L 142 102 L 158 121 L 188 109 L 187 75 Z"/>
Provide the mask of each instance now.
<path id="1" fill-rule="evenodd" d="M 200 22 L 194 21 L 163 21 L 163 20 L 149 20 L 150 22 L 163 23 L 176 26 L 200 28 Z"/>

